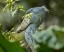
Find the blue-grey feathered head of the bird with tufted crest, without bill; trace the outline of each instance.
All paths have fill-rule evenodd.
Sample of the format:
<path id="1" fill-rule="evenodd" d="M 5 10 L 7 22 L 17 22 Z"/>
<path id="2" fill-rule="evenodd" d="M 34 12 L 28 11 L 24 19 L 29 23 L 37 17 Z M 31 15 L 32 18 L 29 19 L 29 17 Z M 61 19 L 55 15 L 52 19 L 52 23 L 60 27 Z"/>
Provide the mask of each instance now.
<path id="1" fill-rule="evenodd" d="M 30 18 L 30 23 L 35 23 L 36 25 L 40 25 L 45 19 L 46 13 L 48 11 L 49 10 L 45 6 L 42 6 L 42 7 L 31 8 L 26 11 L 26 14 L 33 13 Z M 40 16 L 38 16 L 37 14 Z M 41 17 L 41 21 L 40 21 L 40 17 Z"/>

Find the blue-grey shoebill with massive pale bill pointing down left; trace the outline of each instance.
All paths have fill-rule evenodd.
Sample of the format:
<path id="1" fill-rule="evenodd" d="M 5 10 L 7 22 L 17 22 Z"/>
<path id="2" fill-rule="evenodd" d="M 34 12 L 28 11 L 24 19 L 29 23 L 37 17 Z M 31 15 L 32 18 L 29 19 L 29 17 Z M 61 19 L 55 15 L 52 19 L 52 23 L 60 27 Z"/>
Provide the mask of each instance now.
<path id="1" fill-rule="evenodd" d="M 37 45 L 32 35 L 38 30 L 38 27 L 46 18 L 47 12 L 49 12 L 49 10 L 45 6 L 28 9 L 22 23 L 17 28 L 17 33 L 25 30 L 25 39 L 32 52 L 36 52 L 34 46 Z"/>

